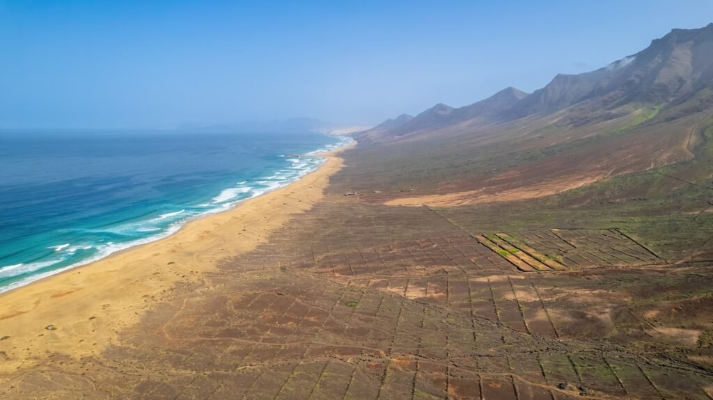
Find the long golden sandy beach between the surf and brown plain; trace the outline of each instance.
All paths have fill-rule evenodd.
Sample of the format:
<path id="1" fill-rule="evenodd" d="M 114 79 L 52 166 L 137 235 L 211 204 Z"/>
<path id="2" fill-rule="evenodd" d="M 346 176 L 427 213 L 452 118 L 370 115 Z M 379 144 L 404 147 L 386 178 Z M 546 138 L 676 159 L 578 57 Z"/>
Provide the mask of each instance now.
<path id="1" fill-rule="evenodd" d="M 160 241 L 116 253 L 0 295 L 0 352 L 11 371 L 50 352 L 98 354 L 179 283 L 196 283 L 223 258 L 252 250 L 322 199 L 342 168 L 337 154 L 299 181 L 234 209 L 190 221 Z M 51 327 L 49 327 L 51 325 Z M 47 328 L 49 327 L 49 329 Z"/>

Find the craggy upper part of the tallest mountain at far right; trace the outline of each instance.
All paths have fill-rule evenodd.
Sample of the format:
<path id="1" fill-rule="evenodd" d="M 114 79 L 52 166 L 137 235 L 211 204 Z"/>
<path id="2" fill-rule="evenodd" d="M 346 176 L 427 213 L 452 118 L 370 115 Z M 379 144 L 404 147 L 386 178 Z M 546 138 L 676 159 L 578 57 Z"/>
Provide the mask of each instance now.
<path id="1" fill-rule="evenodd" d="M 630 102 L 665 104 L 686 98 L 712 78 L 713 23 L 674 29 L 645 50 L 590 73 L 557 75 L 513 112 L 524 117 L 583 101 L 605 108 Z"/>

